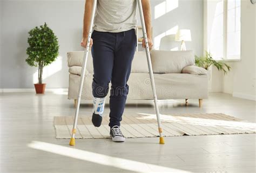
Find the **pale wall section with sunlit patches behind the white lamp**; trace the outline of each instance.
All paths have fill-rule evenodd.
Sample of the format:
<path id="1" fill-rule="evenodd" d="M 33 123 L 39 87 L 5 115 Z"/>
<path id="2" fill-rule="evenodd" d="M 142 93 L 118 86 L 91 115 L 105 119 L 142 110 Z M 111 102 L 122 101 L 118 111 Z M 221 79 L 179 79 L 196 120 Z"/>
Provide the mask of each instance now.
<path id="1" fill-rule="evenodd" d="M 186 48 L 198 56 L 203 53 L 203 0 L 154 0 L 151 8 L 155 48 L 180 48 L 180 42 L 169 36 L 178 29 L 189 29 L 192 41 L 186 42 Z"/>

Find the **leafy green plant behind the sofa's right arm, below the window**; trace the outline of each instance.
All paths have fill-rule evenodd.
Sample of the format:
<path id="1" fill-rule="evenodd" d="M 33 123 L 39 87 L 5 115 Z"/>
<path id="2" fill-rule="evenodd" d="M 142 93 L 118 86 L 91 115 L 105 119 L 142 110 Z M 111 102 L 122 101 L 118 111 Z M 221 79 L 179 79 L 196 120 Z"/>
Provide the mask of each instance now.
<path id="1" fill-rule="evenodd" d="M 218 70 L 221 70 L 224 72 L 224 75 L 227 74 L 228 71 L 230 71 L 231 67 L 228 66 L 224 62 L 224 60 L 216 61 L 212 58 L 211 53 L 208 53 L 206 51 L 206 55 L 202 57 L 195 56 L 196 65 L 198 67 L 203 67 L 206 70 L 209 70 L 211 66 L 215 66 Z"/>

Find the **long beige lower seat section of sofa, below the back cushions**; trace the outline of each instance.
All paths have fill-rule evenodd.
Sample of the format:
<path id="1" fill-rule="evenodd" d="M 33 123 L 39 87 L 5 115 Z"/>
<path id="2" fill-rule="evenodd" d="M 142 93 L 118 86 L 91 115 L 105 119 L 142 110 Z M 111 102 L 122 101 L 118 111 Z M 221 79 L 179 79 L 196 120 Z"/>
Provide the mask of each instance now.
<path id="1" fill-rule="evenodd" d="M 149 79 L 149 74 L 132 73 L 128 81 L 129 95 L 127 99 L 153 99 Z M 80 76 L 70 74 L 69 99 L 77 99 L 79 80 Z M 208 78 L 206 75 L 154 74 L 154 80 L 158 99 L 204 99 L 208 97 Z M 92 81 L 92 75 L 85 77 L 82 99 L 93 99 Z M 106 99 L 109 99 L 110 93 L 107 94 Z"/>

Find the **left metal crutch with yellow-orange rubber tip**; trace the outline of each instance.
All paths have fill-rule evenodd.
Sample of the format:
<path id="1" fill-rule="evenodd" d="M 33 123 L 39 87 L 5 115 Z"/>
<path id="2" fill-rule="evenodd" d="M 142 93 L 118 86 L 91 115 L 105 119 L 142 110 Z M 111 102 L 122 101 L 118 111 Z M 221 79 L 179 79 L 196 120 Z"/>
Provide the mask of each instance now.
<path id="1" fill-rule="evenodd" d="M 88 54 L 89 54 L 90 40 L 91 40 L 91 34 L 92 34 L 92 26 L 93 26 L 93 21 L 94 21 L 94 17 L 95 17 L 96 6 L 97 6 L 97 0 L 94 0 L 93 1 L 93 6 L 92 6 L 91 23 L 90 23 L 89 33 L 88 33 L 88 37 L 87 37 L 87 44 L 86 44 L 86 49 L 84 51 L 82 75 L 80 76 L 80 87 L 79 87 L 79 92 L 78 92 L 78 99 L 77 99 L 78 101 L 77 101 L 75 119 L 74 119 L 73 129 L 72 129 L 72 137 L 71 137 L 70 142 L 69 142 L 70 146 L 75 146 L 75 143 L 76 143 L 75 142 L 75 134 L 76 134 L 76 128 L 77 128 L 77 119 L 78 119 L 80 100 L 81 100 L 81 95 L 82 95 L 82 90 L 83 90 L 85 69 L 86 69 L 86 63 L 87 63 Z"/>

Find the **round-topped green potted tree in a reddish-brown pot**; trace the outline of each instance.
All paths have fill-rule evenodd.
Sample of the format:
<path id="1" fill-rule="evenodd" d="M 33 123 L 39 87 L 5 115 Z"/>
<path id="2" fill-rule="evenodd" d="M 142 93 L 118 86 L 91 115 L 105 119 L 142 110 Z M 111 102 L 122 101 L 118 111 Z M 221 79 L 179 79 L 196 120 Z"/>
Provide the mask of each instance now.
<path id="1" fill-rule="evenodd" d="M 46 23 L 29 31 L 29 47 L 26 49 L 30 66 L 38 67 L 38 83 L 34 84 L 36 93 L 44 93 L 45 83 L 42 81 L 43 68 L 57 59 L 58 39 Z"/>

